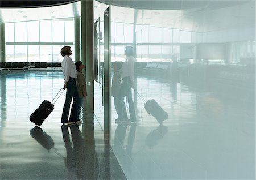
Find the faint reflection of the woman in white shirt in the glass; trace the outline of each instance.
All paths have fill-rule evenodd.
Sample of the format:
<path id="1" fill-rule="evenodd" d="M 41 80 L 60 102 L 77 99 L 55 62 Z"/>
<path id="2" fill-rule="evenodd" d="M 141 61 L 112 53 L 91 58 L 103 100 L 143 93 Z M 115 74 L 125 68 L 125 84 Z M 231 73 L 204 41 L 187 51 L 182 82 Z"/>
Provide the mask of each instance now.
<path id="1" fill-rule="evenodd" d="M 122 83 L 121 83 L 121 101 L 124 101 L 126 96 L 129 104 L 130 121 L 136 121 L 134 102 L 131 96 L 131 87 L 133 87 L 134 80 L 134 58 L 133 58 L 133 47 L 125 47 L 126 59 L 122 65 Z"/>

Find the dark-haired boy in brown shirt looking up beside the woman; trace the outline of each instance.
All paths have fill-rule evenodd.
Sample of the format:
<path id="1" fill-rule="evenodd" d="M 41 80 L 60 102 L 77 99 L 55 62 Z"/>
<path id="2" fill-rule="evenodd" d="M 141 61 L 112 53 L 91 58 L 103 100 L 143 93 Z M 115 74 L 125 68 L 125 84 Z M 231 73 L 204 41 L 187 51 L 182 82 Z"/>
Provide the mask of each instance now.
<path id="1" fill-rule="evenodd" d="M 77 100 L 77 103 L 79 104 L 78 109 L 77 109 L 77 117 L 79 117 L 81 108 L 82 108 L 82 98 L 87 96 L 87 91 L 86 91 L 86 83 L 85 83 L 84 74 L 82 74 L 82 69 L 85 68 L 85 66 L 82 64 L 81 61 L 76 62 L 75 65 L 76 65 L 76 70 L 77 70 L 76 86 L 77 86 L 77 91 L 79 94 L 79 98 Z M 77 119 L 76 122 L 82 123 L 82 121 L 80 119 Z"/>

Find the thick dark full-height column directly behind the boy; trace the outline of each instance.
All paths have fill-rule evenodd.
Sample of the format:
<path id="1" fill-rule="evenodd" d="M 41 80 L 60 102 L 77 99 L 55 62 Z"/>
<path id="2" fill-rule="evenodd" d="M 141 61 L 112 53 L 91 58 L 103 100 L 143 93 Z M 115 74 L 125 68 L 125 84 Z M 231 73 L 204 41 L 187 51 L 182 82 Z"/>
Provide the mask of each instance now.
<path id="1" fill-rule="evenodd" d="M 94 115 L 94 80 L 93 80 L 93 0 L 81 1 L 81 59 L 86 65 L 87 117 Z M 92 118 L 89 118 L 92 119 Z M 89 121 L 88 119 L 84 119 Z"/>

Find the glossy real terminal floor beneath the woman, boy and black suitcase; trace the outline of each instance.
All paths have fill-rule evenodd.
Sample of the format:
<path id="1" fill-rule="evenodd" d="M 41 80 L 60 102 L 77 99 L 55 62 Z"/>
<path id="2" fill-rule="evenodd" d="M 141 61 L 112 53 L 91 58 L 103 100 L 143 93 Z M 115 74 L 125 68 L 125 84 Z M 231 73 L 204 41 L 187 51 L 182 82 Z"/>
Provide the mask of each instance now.
<path id="1" fill-rule="evenodd" d="M 62 72 L 0 72 L 0 84 L 0 179 L 126 179 L 97 119 L 61 126 L 64 93 L 40 128 L 29 121 Z"/>

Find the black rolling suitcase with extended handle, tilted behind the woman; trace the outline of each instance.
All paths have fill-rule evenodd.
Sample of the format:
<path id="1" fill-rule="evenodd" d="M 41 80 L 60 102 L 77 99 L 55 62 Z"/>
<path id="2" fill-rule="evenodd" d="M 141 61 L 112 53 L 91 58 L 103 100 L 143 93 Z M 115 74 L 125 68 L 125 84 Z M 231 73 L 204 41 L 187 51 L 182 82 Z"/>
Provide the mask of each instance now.
<path id="1" fill-rule="evenodd" d="M 63 89 L 63 88 L 61 88 Z M 60 89 L 60 91 L 61 91 Z M 63 93 L 63 91 L 60 93 L 60 91 L 57 93 L 57 95 L 53 98 L 53 100 L 55 100 L 55 102 L 57 101 L 57 99 L 60 97 L 60 95 Z M 59 96 L 58 96 L 59 95 Z M 58 97 L 57 97 L 58 96 Z M 57 98 L 56 98 L 57 97 Z M 38 109 L 35 110 L 34 113 L 32 113 L 30 115 L 30 121 L 35 123 L 36 126 L 41 126 L 42 123 L 44 122 L 44 120 L 49 116 L 49 114 L 51 114 L 51 112 L 53 111 L 54 109 L 54 104 L 55 102 L 53 103 L 53 100 L 52 102 L 50 101 L 47 101 L 47 100 L 44 100 L 40 106 L 38 107 Z"/>

